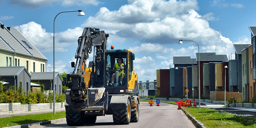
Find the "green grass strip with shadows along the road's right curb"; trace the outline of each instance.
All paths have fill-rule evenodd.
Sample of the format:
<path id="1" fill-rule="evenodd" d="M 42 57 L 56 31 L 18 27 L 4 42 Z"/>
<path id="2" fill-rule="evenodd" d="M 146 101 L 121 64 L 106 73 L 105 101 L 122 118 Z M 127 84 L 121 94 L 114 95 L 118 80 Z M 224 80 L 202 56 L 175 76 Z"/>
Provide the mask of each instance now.
<path id="1" fill-rule="evenodd" d="M 221 113 L 210 108 L 184 108 L 207 128 L 256 128 L 256 118 L 232 113 Z"/>

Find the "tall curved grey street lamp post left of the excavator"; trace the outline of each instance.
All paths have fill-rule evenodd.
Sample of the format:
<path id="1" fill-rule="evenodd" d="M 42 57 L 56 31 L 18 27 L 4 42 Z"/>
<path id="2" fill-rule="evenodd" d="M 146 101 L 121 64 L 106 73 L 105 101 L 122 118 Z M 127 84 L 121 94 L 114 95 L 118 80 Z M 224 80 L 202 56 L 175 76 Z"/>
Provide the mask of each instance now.
<path id="1" fill-rule="evenodd" d="M 85 16 L 84 12 L 82 10 L 77 10 L 79 13 L 78 13 L 78 16 Z M 68 12 L 75 12 L 75 11 L 63 11 L 63 12 L 60 12 L 60 13 L 68 13 Z M 60 14 L 58 13 L 56 15 L 56 17 Z M 54 18 L 54 21 L 53 21 L 53 113 L 55 114 L 55 19 L 56 17 Z"/>

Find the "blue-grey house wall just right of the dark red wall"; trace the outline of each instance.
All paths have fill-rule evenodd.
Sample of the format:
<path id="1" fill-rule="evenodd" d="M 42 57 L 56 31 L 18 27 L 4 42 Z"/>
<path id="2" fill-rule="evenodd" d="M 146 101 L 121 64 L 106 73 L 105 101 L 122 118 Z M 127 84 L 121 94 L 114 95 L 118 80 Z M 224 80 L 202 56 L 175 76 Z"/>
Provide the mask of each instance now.
<path id="1" fill-rule="evenodd" d="M 232 59 L 228 62 L 228 72 L 229 72 L 229 92 L 236 92 L 237 90 L 237 60 Z"/>

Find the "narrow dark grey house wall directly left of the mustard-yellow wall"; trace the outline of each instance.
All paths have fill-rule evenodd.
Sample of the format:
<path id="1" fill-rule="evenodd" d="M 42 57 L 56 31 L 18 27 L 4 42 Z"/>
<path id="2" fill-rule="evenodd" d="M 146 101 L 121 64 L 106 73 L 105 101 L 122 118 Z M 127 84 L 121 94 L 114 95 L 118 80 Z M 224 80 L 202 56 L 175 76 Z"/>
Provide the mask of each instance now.
<path id="1" fill-rule="evenodd" d="M 209 90 L 215 91 L 215 66 L 214 62 L 209 63 Z"/>

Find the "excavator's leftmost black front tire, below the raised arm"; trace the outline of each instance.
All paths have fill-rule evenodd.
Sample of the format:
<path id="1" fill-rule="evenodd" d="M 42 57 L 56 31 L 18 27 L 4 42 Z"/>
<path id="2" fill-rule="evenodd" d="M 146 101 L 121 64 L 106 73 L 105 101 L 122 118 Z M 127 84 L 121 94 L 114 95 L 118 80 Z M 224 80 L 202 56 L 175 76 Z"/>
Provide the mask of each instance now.
<path id="1" fill-rule="evenodd" d="M 83 125 L 83 117 L 82 114 L 84 111 L 78 111 L 71 108 L 66 107 L 66 121 L 69 126 L 80 126 Z"/>

